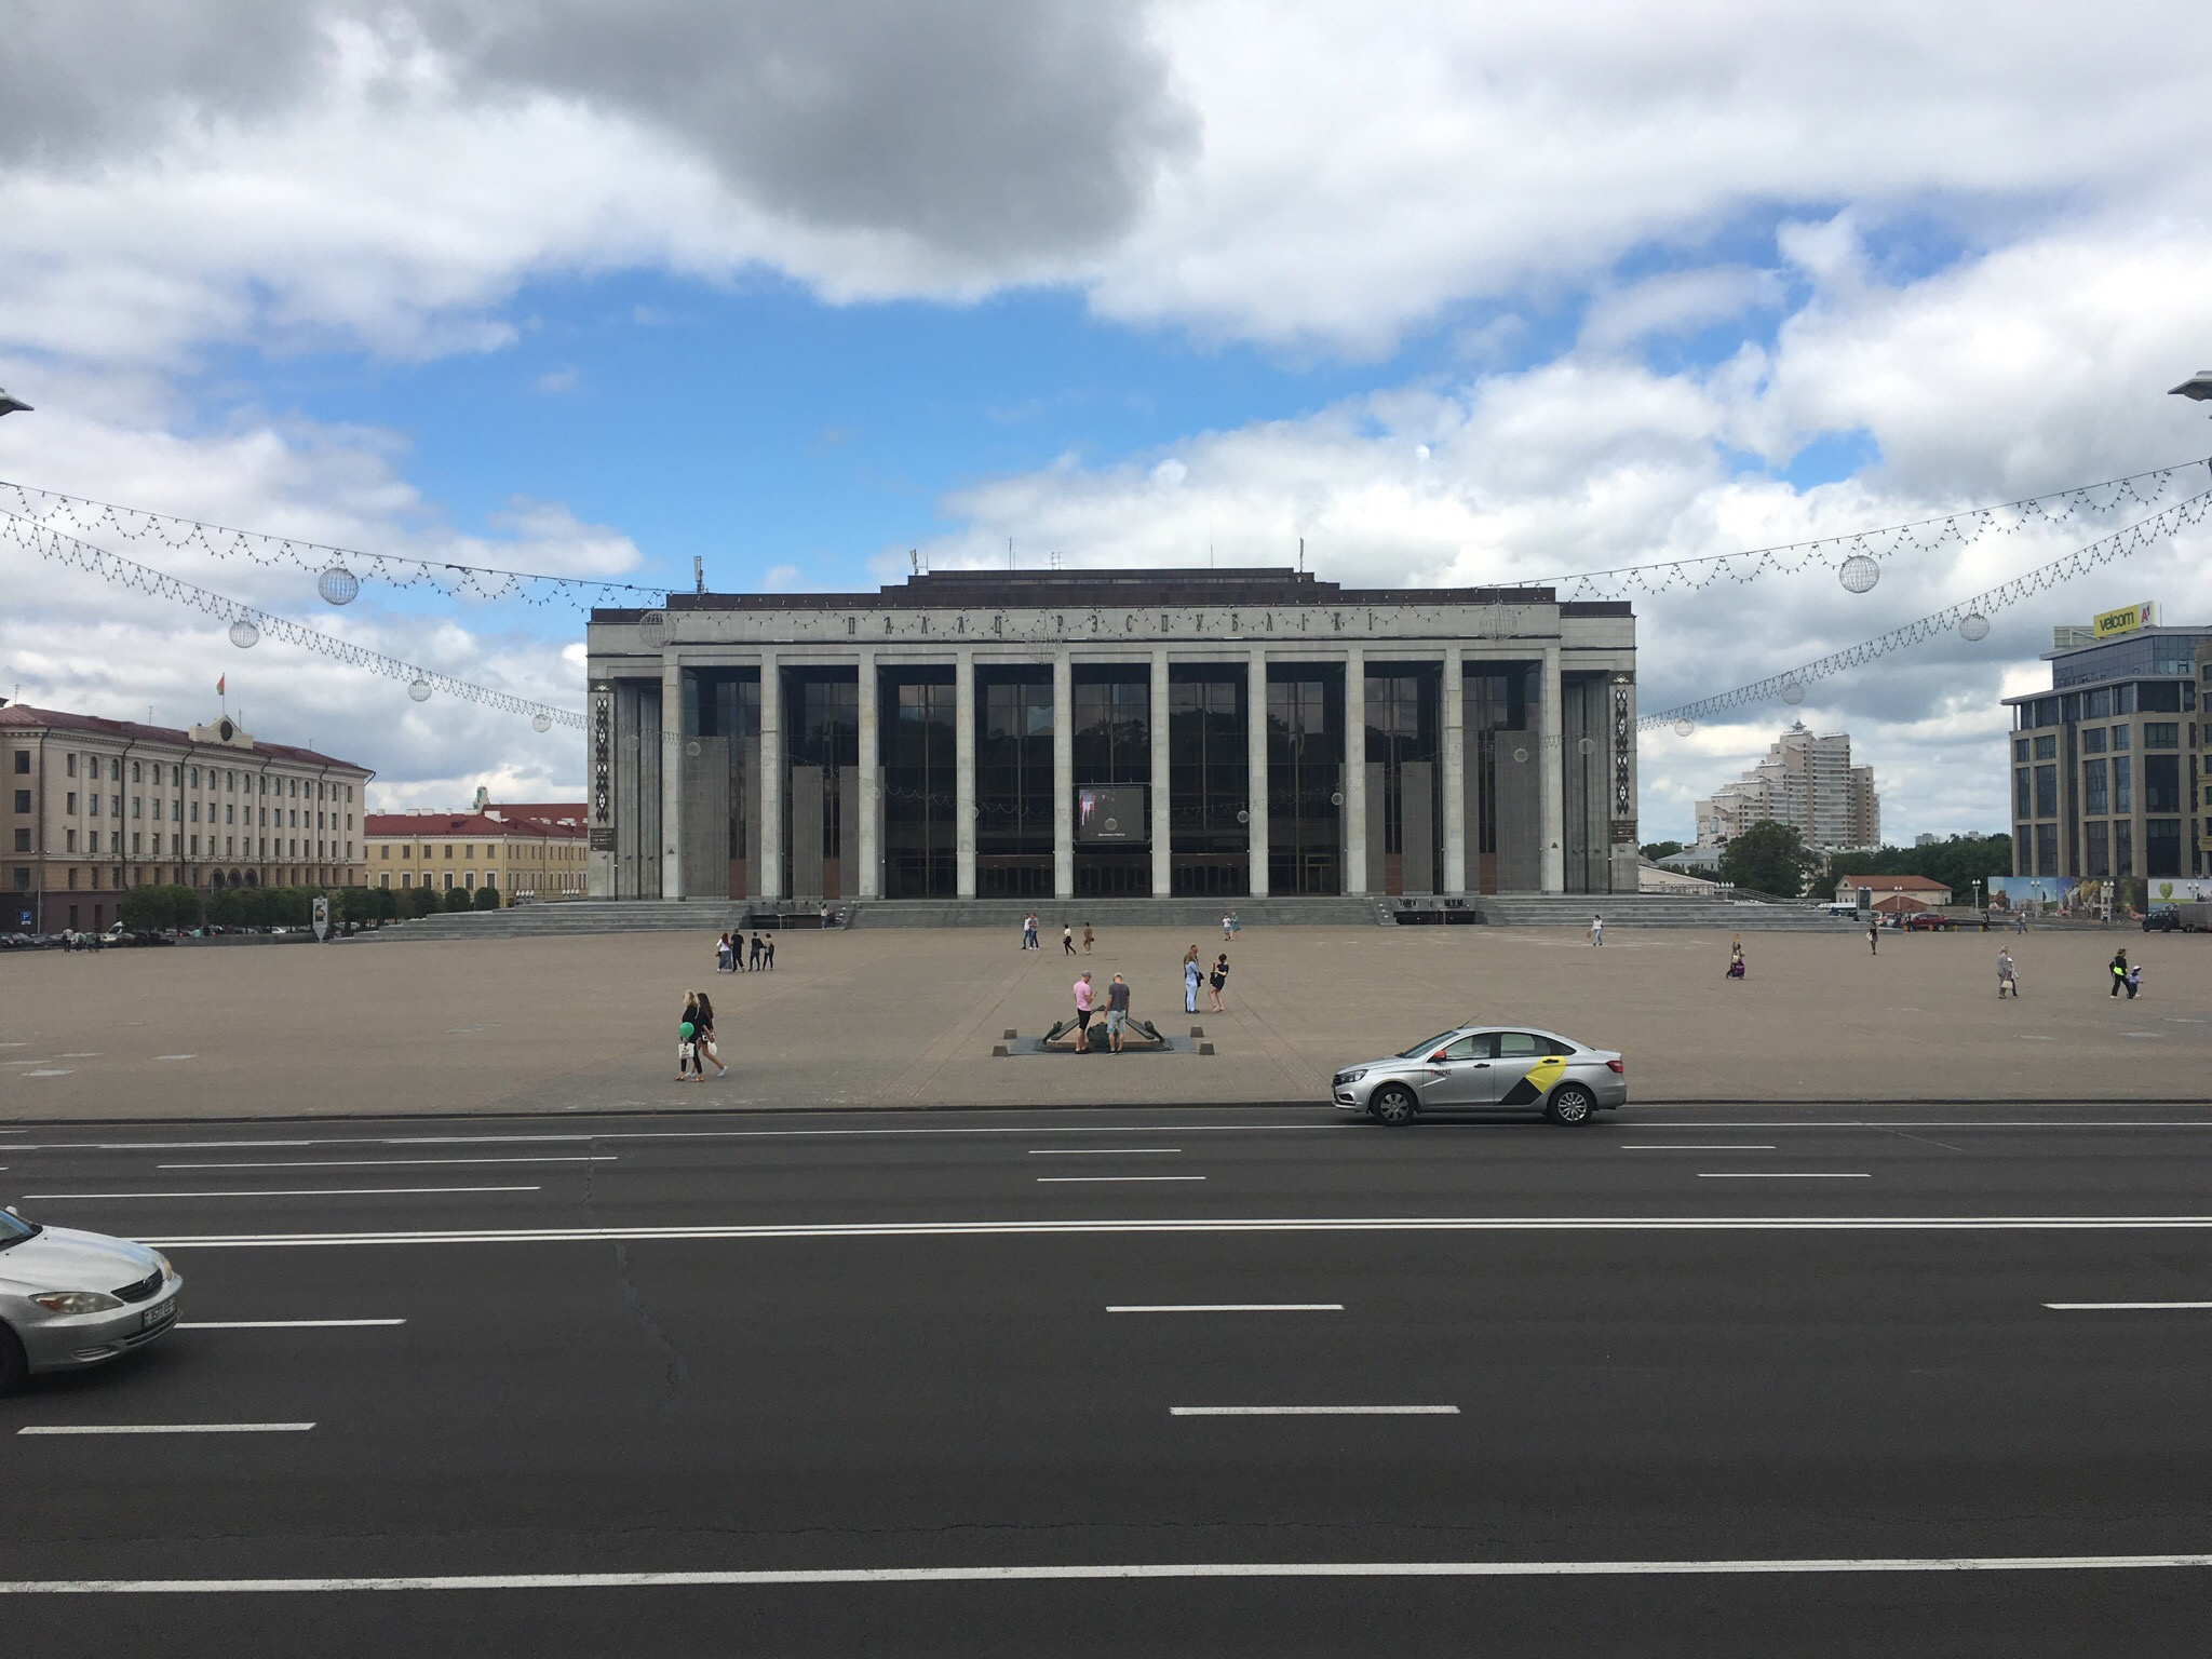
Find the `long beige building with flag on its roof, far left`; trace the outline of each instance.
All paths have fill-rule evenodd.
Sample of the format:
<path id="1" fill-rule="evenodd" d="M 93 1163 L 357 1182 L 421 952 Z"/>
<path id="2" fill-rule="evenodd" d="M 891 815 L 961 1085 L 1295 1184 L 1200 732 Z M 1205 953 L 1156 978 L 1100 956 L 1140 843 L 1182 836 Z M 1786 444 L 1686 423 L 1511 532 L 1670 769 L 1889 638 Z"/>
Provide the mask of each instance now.
<path id="1" fill-rule="evenodd" d="M 142 883 L 361 887 L 369 776 L 230 717 L 175 730 L 0 708 L 0 920 L 97 931 Z"/>

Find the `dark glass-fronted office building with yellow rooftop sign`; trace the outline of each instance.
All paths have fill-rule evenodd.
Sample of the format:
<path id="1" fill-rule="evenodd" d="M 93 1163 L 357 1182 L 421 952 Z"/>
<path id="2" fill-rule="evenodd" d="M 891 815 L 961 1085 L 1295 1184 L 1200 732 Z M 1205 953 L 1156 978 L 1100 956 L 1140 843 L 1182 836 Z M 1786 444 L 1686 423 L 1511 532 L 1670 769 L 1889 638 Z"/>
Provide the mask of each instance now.
<path id="1" fill-rule="evenodd" d="M 2201 876 L 2212 799 L 2199 688 L 2212 690 L 2212 628 L 2055 637 L 2051 690 L 2013 710 L 2013 874 Z"/>

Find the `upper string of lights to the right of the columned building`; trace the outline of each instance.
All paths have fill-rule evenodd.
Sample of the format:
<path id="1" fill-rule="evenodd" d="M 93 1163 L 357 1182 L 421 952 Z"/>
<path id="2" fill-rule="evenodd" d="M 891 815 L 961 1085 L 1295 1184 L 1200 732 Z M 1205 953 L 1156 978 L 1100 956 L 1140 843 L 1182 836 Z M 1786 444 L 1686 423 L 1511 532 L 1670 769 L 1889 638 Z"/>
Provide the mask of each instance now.
<path id="1" fill-rule="evenodd" d="M 1624 564 L 1613 571 L 1557 575 L 1522 586 L 1566 588 L 1564 597 L 1568 599 L 1626 599 L 1674 588 L 1697 593 L 1723 580 L 1745 584 L 1763 575 L 1796 575 L 1812 566 L 1829 566 L 1838 573 L 1845 588 L 1867 593 L 1880 582 L 1882 560 L 1900 553 L 1931 553 L 1947 544 L 1964 549 L 1989 533 L 2017 535 L 2028 526 L 2057 526 L 2077 518 L 2115 513 L 2124 507 L 2150 507 L 2174 487 L 2177 476 L 2188 467 L 2212 467 L 2212 462 L 2177 462 L 2148 473 L 2106 478 L 2097 484 L 2075 484 L 2048 495 L 2024 495 L 2017 502 L 1918 518 L 1909 524 L 1885 524 L 1871 531 L 1820 535 L 1809 542 L 1752 546 L 1736 553 L 1712 553 L 1690 560 Z"/>

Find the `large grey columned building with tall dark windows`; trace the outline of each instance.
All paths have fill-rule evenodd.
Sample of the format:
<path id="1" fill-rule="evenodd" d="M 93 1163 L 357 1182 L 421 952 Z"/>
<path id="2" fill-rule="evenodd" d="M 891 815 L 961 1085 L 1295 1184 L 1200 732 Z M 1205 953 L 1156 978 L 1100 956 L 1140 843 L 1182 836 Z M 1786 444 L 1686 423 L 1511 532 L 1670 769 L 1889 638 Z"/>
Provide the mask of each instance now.
<path id="1" fill-rule="evenodd" d="M 593 611 L 604 898 L 1637 889 L 1635 617 L 1301 571 Z"/>

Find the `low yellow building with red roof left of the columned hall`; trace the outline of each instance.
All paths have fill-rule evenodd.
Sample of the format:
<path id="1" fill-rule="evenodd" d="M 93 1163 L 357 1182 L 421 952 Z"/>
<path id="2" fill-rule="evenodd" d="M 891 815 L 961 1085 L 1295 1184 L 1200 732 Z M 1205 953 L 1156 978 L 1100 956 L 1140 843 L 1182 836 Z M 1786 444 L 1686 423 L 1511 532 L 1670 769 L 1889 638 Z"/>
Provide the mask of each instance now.
<path id="1" fill-rule="evenodd" d="M 372 812 L 372 887 L 491 887 L 518 898 L 584 898 L 591 865 L 582 801 L 484 803 L 473 812 Z"/>

